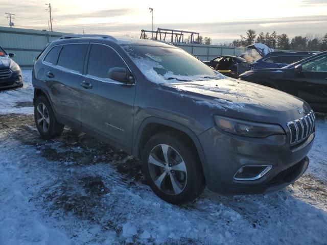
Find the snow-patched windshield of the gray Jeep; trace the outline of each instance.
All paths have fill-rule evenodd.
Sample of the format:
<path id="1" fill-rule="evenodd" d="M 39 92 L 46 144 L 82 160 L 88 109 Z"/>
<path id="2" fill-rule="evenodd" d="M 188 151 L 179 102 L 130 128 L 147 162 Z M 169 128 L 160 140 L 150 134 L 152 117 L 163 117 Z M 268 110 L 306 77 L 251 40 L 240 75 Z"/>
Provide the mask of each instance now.
<path id="1" fill-rule="evenodd" d="M 179 48 L 126 45 L 124 50 L 152 82 L 176 83 L 226 78 Z"/>

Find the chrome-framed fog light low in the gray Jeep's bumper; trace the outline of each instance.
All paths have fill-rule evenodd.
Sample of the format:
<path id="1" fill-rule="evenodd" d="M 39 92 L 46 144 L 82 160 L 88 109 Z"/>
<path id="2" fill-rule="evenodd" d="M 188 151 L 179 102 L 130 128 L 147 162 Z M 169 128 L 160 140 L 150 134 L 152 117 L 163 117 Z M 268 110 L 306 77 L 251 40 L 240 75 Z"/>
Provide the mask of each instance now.
<path id="1" fill-rule="evenodd" d="M 272 165 L 243 166 L 234 175 L 235 180 L 258 180 L 272 168 Z"/>

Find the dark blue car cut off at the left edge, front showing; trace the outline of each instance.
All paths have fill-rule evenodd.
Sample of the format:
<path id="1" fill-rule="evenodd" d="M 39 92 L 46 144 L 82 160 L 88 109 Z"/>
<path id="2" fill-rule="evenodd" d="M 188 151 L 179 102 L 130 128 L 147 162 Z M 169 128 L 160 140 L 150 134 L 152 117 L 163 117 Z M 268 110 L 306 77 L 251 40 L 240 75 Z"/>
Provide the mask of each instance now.
<path id="1" fill-rule="evenodd" d="M 0 89 L 22 87 L 22 74 L 19 65 L 13 61 L 15 54 L 7 54 L 0 46 Z"/>

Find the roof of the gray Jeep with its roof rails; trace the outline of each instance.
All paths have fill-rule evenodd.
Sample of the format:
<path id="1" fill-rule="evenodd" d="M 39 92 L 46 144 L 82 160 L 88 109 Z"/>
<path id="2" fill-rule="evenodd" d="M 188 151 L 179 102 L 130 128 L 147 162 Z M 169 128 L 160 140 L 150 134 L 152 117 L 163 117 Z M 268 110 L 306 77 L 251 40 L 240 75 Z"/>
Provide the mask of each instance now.
<path id="1" fill-rule="evenodd" d="M 175 47 L 173 44 L 161 41 L 161 40 L 148 40 L 148 39 L 136 39 L 136 38 L 119 38 L 113 37 L 110 35 L 102 35 L 102 34 L 86 34 L 86 35 L 64 35 L 60 37 L 58 40 L 54 41 L 54 43 L 75 43 L 75 42 L 85 42 L 85 41 L 94 41 L 101 43 L 115 43 L 121 46 L 124 45 L 146 45 L 146 46 L 161 46 L 161 47 Z"/>

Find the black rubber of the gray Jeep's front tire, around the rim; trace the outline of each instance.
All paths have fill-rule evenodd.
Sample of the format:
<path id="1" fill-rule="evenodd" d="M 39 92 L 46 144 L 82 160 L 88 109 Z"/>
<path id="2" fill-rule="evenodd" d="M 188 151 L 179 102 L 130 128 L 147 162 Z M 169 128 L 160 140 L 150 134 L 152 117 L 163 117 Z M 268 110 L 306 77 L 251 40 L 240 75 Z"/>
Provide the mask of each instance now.
<path id="1" fill-rule="evenodd" d="M 177 180 L 177 178 L 179 178 L 180 177 L 179 175 L 181 175 L 181 174 L 184 175 L 184 178 L 185 178 L 184 172 L 180 172 L 179 170 L 177 170 L 177 171 L 170 170 L 170 172 L 171 171 L 174 172 L 173 174 L 170 175 L 168 173 L 169 171 L 167 170 L 167 175 L 164 178 L 168 178 L 168 180 L 163 179 L 160 182 L 165 185 L 167 184 L 168 187 L 169 187 L 169 183 L 170 183 L 172 193 L 167 193 L 170 191 L 169 188 L 167 190 L 162 190 L 164 188 L 160 189 L 161 185 L 159 188 L 155 184 L 154 179 L 158 180 L 159 178 L 153 178 L 153 175 L 154 175 L 153 173 L 159 171 L 159 173 L 157 173 L 157 175 L 160 176 L 160 175 L 164 174 L 163 173 L 164 171 L 166 171 L 165 168 L 162 168 L 155 164 L 154 164 L 155 165 L 154 166 L 153 164 L 149 163 L 150 153 L 153 154 L 153 151 L 155 151 L 155 149 L 157 147 L 160 148 L 161 146 L 159 146 L 159 145 L 170 146 L 170 149 L 169 149 L 169 151 L 171 152 L 170 155 L 172 155 L 173 153 L 175 154 L 175 151 L 176 151 L 177 154 L 175 154 L 175 156 L 177 155 L 177 156 L 181 157 L 181 159 L 178 157 L 179 160 L 182 160 L 184 162 L 184 166 L 186 168 L 186 181 L 184 181 L 184 183 L 180 185 L 180 186 L 183 186 L 183 189 L 178 194 L 176 194 L 174 191 L 171 178 L 174 178 L 175 180 Z M 159 149 L 159 151 L 160 151 L 160 149 Z M 162 152 L 164 152 L 164 150 L 162 150 Z M 158 158 L 156 158 L 156 159 L 158 159 Z M 174 159 L 171 158 L 171 161 L 174 161 Z M 142 162 L 143 162 L 143 171 L 144 171 L 144 174 L 145 174 L 145 177 L 146 177 L 146 180 L 147 180 L 149 186 L 154 191 L 154 193 L 156 195 L 158 195 L 159 198 L 161 198 L 162 200 L 165 200 L 166 202 L 169 202 L 172 204 L 184 204 L 184 203 L 191 202 L 194 199 L 196 199 L 197 197 L 199 197 L 199 195 L 202 193 L 202 191 L 205 188 L 205 179 L 204 179 L 201 163 L 200 163 L 199 157 L 197 155 L 197 151 L 196 151 L 196 149 L 194 149 L 193 144 L 190 143 L 190 140 L 186 137 L 183 137 L 182 135 L 178 135 L 173 132 L 163 132 L 163 133 L 158 133 L 158 134 L 154 135 L 152 138 L 150 138 L 150 140 L 145 145 L 145 148 L 142 153 Z M 164 160 L 164 162 L 165 162 L 165 160 Z M 170 162 L 170 161 L 168 161 L 168 162 Z M 175 163 L 175 164 L 178 165 L 178 163 Z M 173 162 L 171 163 L 171 165 L 172 165 L 172 167 L 176 166 L 176 165 L 174 165 Z M 156 169 L 154 171 L 152 169 L 153 168 L 152 166 L 154 166 L 158 169 Z M 151 173 L 150 173 L 150 171 L 151 171 Z M 173 175 L 175 177 L 172 177 Z M 177 175 L 179 177 L 177 177 Z M 164 180 L 166 183 L 164 183 Z M 180 182 L 178 182 L 178 184 L 180 184 Z"/>

